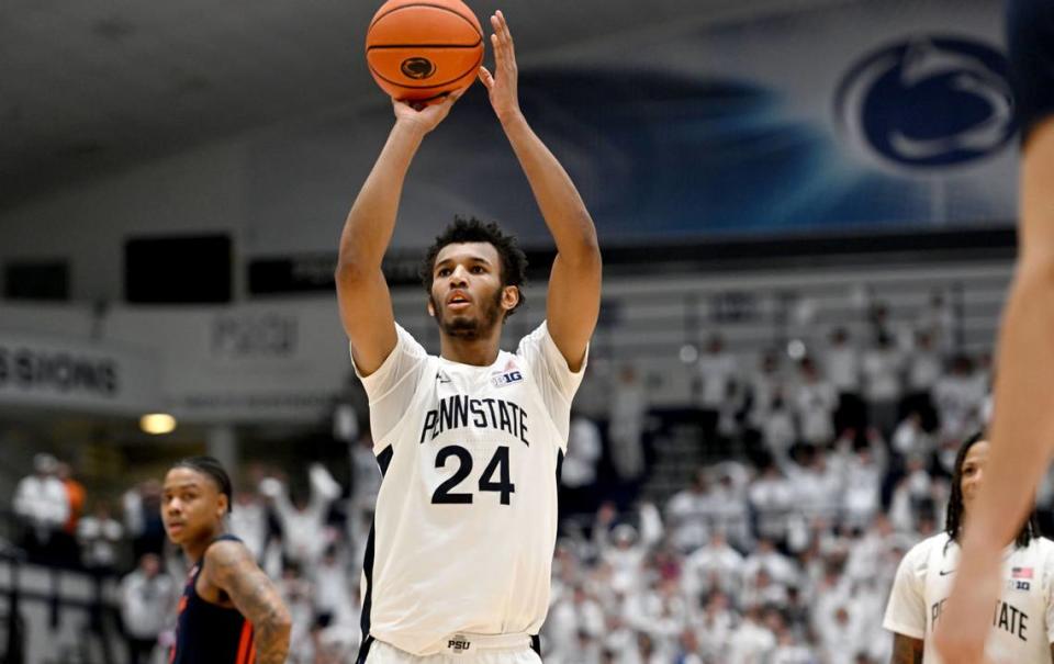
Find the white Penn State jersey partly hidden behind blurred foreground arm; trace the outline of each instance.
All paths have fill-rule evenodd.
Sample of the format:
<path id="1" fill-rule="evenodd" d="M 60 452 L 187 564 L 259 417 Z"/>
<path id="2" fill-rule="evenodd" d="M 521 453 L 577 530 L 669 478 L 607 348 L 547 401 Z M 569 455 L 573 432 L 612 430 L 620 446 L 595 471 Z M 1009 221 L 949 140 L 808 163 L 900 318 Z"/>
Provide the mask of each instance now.
<path id="1" fill-rule="evenodd" d="M 882 626 L 921 639 L 922 661 L 940 664 L 930 638 L 952 593 L 960 548 L 946 533 L 928 538 L 900 561 Z M 994 607 L 985 652 L 993 662 L 1051 662 L 1054 641 L 1054 542 L 1033 539 L 1024 549 L 1003 554 L 1002 595 Z"/>

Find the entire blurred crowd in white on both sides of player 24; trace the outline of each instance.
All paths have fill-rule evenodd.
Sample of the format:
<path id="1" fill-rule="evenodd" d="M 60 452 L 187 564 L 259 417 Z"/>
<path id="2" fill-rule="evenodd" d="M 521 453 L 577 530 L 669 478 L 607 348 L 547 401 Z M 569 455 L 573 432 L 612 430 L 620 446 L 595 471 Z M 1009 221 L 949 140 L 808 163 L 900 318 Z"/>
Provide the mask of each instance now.
<path id="1" fill-rule="evenodd" d="M 694 365 L 695 430 L 700 449 L 730 453 L 672 494 L 647 486 L 663 444 L 649 423 L 662 414 L 640 368 L 603 387 L 609 412 L 573 413 L 547 662 L 888 661 L 881 623 L 894 572 L 942 527 L 955 451 L 985 420 L 990 376 L 986 359 L 951 351 L 939 315 L 907 331 L 881 307 L 870 319 L 859 339 L 836 328 L 797 353 L 743 357 L 709 339 Z M 238 483 L 231 516 L 279 579 L 293 664 L 350 661 L 360 638 L 380 473 L 361 418 L 338 415 L 346 485 L 321 464 L 301 477 L 256 473 Z M 38 455 L 34 469 L 14 498 L 26 551 L 49 564 L 134 566 L 116 598 L 130 661 L 160 656 L 184 566 L 165 543 L 159 483 L 131 488 L 121 514 L 104 503 L 81 514 L 68 468 Z"/>

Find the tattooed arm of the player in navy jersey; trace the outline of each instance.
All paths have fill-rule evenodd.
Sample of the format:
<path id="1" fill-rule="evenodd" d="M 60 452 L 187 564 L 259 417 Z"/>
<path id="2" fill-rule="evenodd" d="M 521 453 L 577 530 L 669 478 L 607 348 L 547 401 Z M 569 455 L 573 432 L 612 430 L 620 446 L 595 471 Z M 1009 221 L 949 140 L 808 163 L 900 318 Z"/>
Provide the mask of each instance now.
<path id="1" fill-rule="evenodd" d="M 289 609 L 245 544 L 216 542 L 205 554 L 208 579 L 222 588 L 253 623 L 257 664 L 284 664 L 289 654 Z"/>

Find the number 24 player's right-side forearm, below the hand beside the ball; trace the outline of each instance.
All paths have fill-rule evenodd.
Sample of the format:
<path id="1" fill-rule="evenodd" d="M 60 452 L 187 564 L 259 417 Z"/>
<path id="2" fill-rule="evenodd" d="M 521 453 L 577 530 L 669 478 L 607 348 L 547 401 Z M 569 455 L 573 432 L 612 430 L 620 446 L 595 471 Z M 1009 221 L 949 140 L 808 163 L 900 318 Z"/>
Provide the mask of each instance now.
<path id="1" fill-rule="evenodd" d="M 575 265 L 598 259 L 596 228 L 568 171 L 530 128 L 522 113 L 502 117 L 501 122 L 527 176 L 541 216 L 557 243 L 561 260 Z"/>

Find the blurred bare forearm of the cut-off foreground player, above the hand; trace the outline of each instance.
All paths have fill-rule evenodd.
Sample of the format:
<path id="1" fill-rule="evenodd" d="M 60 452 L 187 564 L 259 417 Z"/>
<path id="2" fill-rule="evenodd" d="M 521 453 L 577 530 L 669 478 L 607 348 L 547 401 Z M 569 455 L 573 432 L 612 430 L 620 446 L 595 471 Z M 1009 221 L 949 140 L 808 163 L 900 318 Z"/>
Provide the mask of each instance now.
<path id="1" fill-rule="evenodd" d="M 1021 527 L 1054 437 L 1054 263 L 1019 266 L 1003 315 L 991 457 L 966 526 L 968 548 L 994 555 Z"/>

